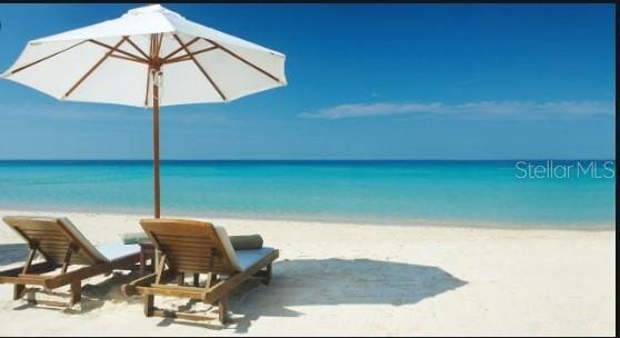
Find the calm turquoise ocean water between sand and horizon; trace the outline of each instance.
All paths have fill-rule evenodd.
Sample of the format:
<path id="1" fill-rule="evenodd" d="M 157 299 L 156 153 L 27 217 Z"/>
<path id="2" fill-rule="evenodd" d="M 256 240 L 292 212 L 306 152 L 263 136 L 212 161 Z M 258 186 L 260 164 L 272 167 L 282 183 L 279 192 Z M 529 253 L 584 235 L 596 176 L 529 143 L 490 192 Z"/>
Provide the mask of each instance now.
<path id="1" fill-rule="evenodd" d="M 614 177 L 596 163 L 594 175 L 518 178 L 516 161 L 163 161 L 161 206 L 163 216 L 614 228 Z M 0 161 L 0 209 L 149 213 L 151 166 Z"/>

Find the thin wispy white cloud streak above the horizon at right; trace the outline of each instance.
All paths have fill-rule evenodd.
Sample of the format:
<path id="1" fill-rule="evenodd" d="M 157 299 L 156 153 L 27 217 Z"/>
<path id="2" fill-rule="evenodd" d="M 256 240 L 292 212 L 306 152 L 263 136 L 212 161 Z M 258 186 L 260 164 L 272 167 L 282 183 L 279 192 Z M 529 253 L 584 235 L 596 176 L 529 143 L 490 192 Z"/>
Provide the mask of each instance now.
<path id="1" fill-rule="evenodd" d="M 553 116 L 613 116 L 613 101 L 477 101 L 464 103 L 347 103 L 302 112 L 302 118 L 347 119 L 397 115 L 546 118 Z"/>

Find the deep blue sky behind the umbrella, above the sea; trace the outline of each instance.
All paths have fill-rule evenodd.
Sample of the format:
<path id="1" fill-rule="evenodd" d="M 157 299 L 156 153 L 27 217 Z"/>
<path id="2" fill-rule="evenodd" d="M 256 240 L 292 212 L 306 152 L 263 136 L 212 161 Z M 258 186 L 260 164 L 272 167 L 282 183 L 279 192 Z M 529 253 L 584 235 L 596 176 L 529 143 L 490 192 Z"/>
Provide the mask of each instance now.
<path id="1" fill-rule="evenodd" d="M 31 39 L 130 4 L 0 4 Z M 287 54 L 289 86 L 166 107 L 163 159 L 614 157 L 613 4 L 169 4 Z M 0 81 L 0 159 L 149 159 L 149 110 Z"/>

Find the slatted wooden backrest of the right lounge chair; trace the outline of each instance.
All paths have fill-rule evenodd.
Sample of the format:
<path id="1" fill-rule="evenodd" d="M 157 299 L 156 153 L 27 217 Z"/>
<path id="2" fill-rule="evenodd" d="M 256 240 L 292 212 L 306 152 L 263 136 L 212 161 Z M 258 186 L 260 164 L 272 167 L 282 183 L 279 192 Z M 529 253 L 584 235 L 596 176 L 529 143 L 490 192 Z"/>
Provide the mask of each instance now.
<path id="1" fill-rule="evenodd" d="M 209 222 L 170 218 L 142 219 L 140 225 L 153 246 L 166 254 L 172 270 L 218 275 L 240 271 L 223 228 L 217 229 Z"/>

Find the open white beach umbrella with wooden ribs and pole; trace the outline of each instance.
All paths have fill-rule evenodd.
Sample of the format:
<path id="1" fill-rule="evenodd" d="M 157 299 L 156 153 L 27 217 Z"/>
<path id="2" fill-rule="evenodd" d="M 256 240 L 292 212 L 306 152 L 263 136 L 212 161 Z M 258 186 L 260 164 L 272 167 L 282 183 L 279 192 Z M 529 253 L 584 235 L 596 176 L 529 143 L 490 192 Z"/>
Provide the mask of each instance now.
<path id="1" fill-rule="evenodd" d="M 60 100 L 151 108 L 160 216 L 159 107 L 228 102 L 284 86 L 284 54 L 151 4 L 32 40 L 2 77 Z"/>

